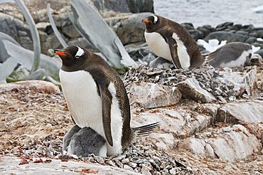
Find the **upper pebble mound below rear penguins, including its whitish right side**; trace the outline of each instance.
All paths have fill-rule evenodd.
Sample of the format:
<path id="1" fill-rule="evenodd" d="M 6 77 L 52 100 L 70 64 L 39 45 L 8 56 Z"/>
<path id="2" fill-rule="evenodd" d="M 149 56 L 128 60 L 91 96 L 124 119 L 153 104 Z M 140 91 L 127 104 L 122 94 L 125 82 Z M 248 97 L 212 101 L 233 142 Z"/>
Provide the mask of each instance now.
<path id="1" fill-rule="evenodd" d="M 216 69 L 204 65 L 202 68 L 193 70 L 172 70 L 171 68 L 159 69 L 139 65 L 137 68 L 130 69 L 124 75 L 124 85 L 129 92 L 130 85 L 136 82 L 176 86 L 188 78 L 195 78 L 198 80 L 200 87 L 212 93 L 219 102 L 227 102 L 234 101 L 237 97 L 249 98 L 249 95 L 252 95 L 250 90 L 253 89 L 254 82 L 257 79 L 257 69 L 262 68 L 262 64 L 259 65 L 259 68 L 254 65 L 232 69 Z M 251 82 L 247 82 L 247 80 Z"/>

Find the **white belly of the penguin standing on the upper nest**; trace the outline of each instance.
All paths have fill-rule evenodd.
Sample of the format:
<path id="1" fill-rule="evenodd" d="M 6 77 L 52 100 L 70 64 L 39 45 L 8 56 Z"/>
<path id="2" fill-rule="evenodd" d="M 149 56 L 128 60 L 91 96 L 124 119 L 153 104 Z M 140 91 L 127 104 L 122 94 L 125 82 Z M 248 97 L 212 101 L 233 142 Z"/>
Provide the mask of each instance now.
<path id="1" fill-rule="evenodd" d="M 169 45 L 163 36 L 156 32 L 148 33 L 145 31 L 144 37 L 146 43 L 156 55 L 169 61 L 172 60 Z"/>

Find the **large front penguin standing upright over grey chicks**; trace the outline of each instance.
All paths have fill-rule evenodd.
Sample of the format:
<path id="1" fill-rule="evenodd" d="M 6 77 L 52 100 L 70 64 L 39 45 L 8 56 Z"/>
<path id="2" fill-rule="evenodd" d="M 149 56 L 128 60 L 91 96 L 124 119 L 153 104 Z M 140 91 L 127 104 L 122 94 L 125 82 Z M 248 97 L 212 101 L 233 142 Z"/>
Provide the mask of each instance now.
<path id="1" fill-rule="evenodd" d="M 159 122 L 130 127 L 127 92 L 119 75 L 99 55 L 79 46 L 55 49 L 63 65 L 60 83 L 77 126 L 91 127 L 107 141 L 107 156 L 122 153 L 134 134 L 147 134 Z"/>

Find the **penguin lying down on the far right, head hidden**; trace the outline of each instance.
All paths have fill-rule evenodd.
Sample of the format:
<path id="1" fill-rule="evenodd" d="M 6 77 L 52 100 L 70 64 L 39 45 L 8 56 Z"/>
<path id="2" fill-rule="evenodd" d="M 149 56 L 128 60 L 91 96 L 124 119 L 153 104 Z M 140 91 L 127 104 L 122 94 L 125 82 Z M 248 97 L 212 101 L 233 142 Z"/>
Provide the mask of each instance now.
<path id="1" fill-rule="evenodd" d="M 208 55 L 208 64 L 215 68 L 244 66 L 250 62 L 252 46 L 248 43 L 227 43 Z"/>

